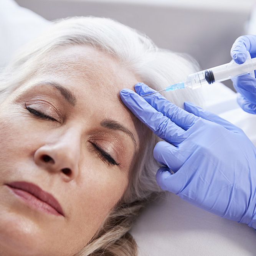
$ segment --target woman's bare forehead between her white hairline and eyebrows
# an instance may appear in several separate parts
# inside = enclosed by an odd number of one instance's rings
[[[115,56],[91,46],[59,47],[42,63],[41,74],[57,77],[74,89],[117,99],[122,88],[133,89],[135,75]]]

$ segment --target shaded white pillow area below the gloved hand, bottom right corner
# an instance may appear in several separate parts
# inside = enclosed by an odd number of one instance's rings
[[[252,256],[256,231],[190,205],[173,193],[151,203],[131,231],[139,256]]]

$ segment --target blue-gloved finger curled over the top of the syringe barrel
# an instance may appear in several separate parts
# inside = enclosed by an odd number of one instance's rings
[[[256,35],[239,36],[233,43],[230,54],[236,63],[242,64],[246,61],[247,51],[252,58],[256,56]]]

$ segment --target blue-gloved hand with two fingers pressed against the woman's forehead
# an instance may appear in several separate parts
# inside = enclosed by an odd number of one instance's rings
[[[120,96],[132,113],[165,141],[154,157],[164,190],[216,215],[256,228],[256,148],[230,122],[190,102],[180,109],[143,83]],[[170,172],[170,169],[174,172]]]

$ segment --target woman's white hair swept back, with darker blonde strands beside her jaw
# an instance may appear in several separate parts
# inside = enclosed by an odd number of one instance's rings
[[[0,77],[0,102],[30,78],[40,61],[63,45],[90,45],[116,56],[141,81],[155,90],[178,83],[198,71],[188,55],[158,48],[144,34],[108,18],[73,17],[58,20],[43,35],[24,46]],[[165,94],[182,107],[184,101],[198,104],[200,97],[190,89]],[[129,193],[106,218],[92,241],[77,255],[135,256],[136,245],[127,233],[145,202],[161,189],[155,181],[160,164],[153,157],[160,139],[153,133],[144,141],[139,159],[134,163]]]

